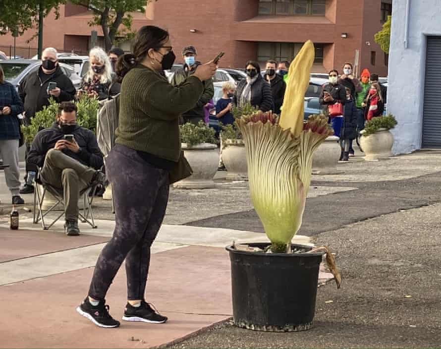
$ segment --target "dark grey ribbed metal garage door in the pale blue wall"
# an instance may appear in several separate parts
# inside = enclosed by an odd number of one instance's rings
[[[423,148],[441,148],[441,37],[427,37]]]

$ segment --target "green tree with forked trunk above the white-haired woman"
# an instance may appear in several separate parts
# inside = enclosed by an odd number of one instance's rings
[[[101,26],[104,34],[106,51],[109,51],[118,40],[131,39],[133,17],[130,12],[144,12],[146,0],[70,0],[90,9],[94,17],[90,26]],[[122,26],[122,27],[121,27]],[[120,28],[121,27],[121,28]]]

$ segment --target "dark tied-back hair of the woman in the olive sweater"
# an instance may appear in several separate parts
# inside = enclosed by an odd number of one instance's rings
[[[168,37],[168,32],[162,28],[153,25],[141,27],[133,40],[133,54],[119,57],[115,64],[115,72],[119,79],[122,80],[130,69],[142,62],[150,49],[159,49]]]

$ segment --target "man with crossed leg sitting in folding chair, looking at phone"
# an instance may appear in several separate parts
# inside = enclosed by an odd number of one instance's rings
[[[40,167],[41,180],[64,193],[67,235],[79,235],[78,199],[91,183],[105,185],[103,154],[95,134],[76,123],[77,107],[62,102],[52,127],[38,132],[32,142],[27,162]]]

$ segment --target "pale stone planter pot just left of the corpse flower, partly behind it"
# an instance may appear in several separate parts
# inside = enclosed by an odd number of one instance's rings
[[[226,180],[248,180],[247,157],[242,139],[226,139],[222,142],[222,162]]]

